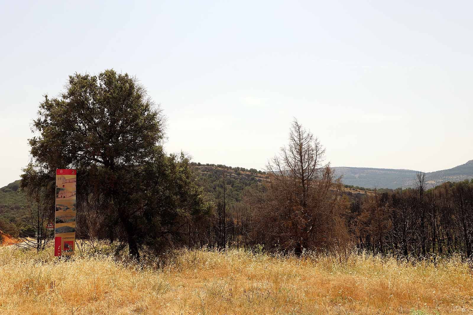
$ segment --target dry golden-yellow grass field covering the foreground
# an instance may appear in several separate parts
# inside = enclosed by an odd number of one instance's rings
[[[0,248],[0,284],[2,315],[473,314],[472,272],[457,258],[436,267],[182,250],[151,268]]]

